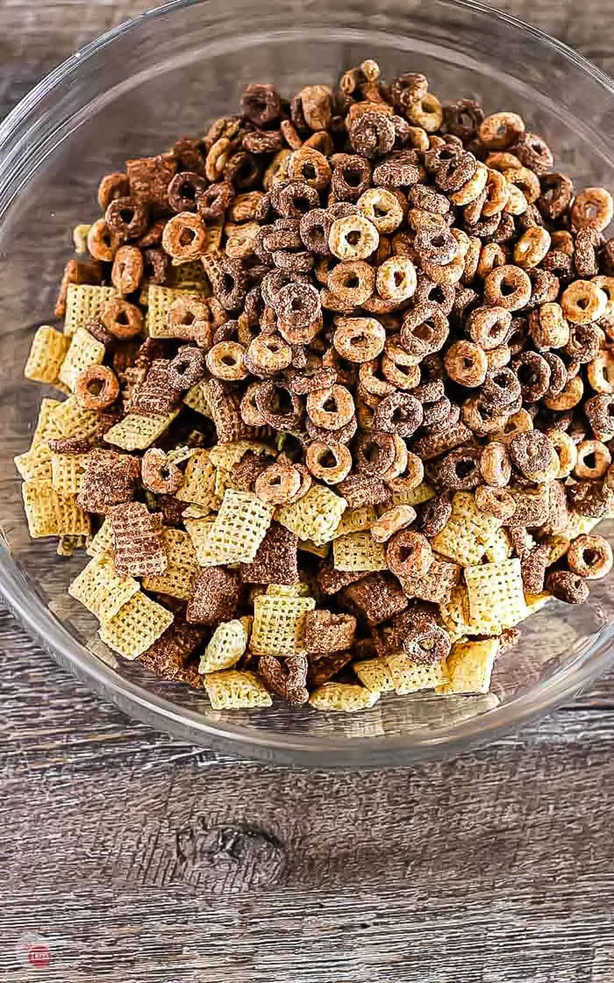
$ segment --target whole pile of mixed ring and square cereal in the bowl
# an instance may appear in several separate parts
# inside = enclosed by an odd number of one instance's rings
[[[32,537],[103,642],[318,710],[482,693],[612,566],[614,210],[514,112],[365,61],[129,160],[26,376]]]

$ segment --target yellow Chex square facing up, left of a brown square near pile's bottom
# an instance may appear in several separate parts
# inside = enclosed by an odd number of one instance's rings
[[[253,602],[251,652],[256,655],[284,655],[303,647],[307,611],[315,607],[313,598],[262,594]]]

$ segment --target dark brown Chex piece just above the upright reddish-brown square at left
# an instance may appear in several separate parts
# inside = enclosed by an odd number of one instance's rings
[[[104,515],[112,505],[134,498],[139,476],[139,458],[95,447],[85,461],[78,502],[87,512]]]

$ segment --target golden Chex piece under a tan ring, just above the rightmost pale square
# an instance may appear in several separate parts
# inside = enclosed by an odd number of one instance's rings
[[[433,536],[431,547],[461,566],[471,566],[479,563],[500,526],[500,519],[479,511],[473,492],[456,492],[452,514],[441,532]]]

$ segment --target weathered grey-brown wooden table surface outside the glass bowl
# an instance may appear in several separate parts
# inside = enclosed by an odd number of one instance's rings
[[[501,5],[614,74],[612,0]],[[145,6],[1,0],[0,113]],[[452,762],[293,773],[131,723],[2,610],[0,649],[0,979],[614,979],[614,673]]]

